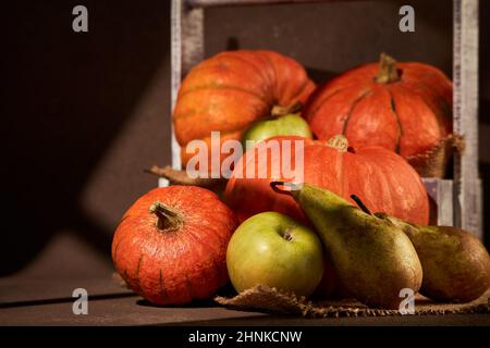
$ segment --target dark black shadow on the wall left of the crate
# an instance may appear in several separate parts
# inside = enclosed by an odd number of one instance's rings
[[[20,270],[62,228],[109,257],[110,234],[83,213],[79,196],[169,55],[168,1],[85,1],[85,34],[72,30],[76,4],[20,1],[4,10],[11,97],[2,112],[9,170],[0,275]]]

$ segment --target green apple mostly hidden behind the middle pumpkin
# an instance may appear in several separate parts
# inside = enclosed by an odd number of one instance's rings
[[[280,117],[261,119],[254,122],[242,136],[242,142],[254,141],[254,145],[271,137],[280,135],[297,135],[313,138],[308,123],[296,113],[290,113]]]

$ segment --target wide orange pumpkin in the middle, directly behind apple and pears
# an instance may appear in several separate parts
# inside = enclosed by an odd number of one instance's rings
[[[301,137],[275,137],[266,140],[293,145],[291,162],[297,154],[294,140],[303,139],[304,179],[303,182],[327,188],[348,199],[358,196],[371,211],[385,212],[400,219],[427,224],[429,222],[429,199],[417,172],[400,156],[382,147],[366,146],[352,148],[344,136],[335,136],[329,141],[311,140]],[[237,162],[224,191],[224,201],[235,212],[238,220],[262,211],[277,211],[302,222],[306,217],[293,198],[278,195],[270,188],[272,181],[284,178],[284,172],[278,176],[271,169],[282,169],[281,157],[244,156]],[[266,167],[266,178],[244,178],[247,167]],[[292,164],[294,167],[294,165]],[[272,177],[274,176],[274,177]],[[256,176],[257,177],[257,176]]]

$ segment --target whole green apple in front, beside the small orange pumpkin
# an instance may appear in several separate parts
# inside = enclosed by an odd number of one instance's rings
[[[258,284],[310,295],[323,275],[323,251],[315,232],[277,212],[244,221],[226,250],[226,266],[236,291]]]

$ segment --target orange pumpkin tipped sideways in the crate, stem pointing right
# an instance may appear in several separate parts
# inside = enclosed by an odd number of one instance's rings
[[[205,140],[209,150],[211,130],[221,132],[221,142],[240,140],[252,122],[274,107],[305,102],[314,89],[295,60],[273,51],[229,51],[205,60],[182,82],[173,112],[183,164],[194,154],[185,153],[191,140]]]

